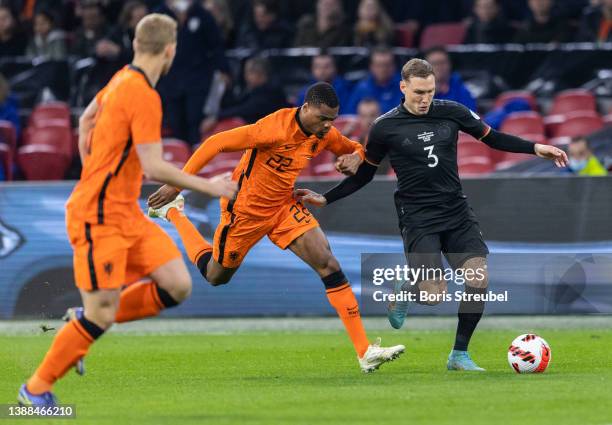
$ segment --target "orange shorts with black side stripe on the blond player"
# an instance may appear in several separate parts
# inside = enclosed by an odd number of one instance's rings
[[[121,229],[67,220],[78,288],[117,289],[181,257],[172,238],[151,220],[136,218],[130,225]]]

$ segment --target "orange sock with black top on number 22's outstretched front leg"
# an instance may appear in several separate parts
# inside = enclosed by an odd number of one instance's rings
[[[338,275],[338,273],[340,273],[341,276]],[[335,280],[341,277],[339,280],[343,280],[345,283],[340,286],[330,287],[326,282],[326,279],[332,280],[329,279],[330,277],[335,277]],[[342,320],[344,328],[353,342],[357,355],[363,357],[370,343],[365,333],[365,329],[363,328],[363,323],[361,322],[359,304],[353,294],[351,285],[346,282],[346,278],[342,272],[336,272],[323,278],[323,282],[326,283],[325,286],[328,288],[325,292],[327,293],[329,303],[336,309],[340,320]]]

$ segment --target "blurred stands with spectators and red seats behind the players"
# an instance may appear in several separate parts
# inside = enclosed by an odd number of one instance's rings
[[[567,146],[568,175],[612,166],[612,0],[0,0],[0,179],[78,178],[78,114],[129,63],[151,12],[179,23],[174,66],[157,86],[179,166],[207,135],[300,105],[316,81],[338,92],[337,126],[365,143],[400,103],[399,69],[414,56],[434,66],[437,98]],[[460,139],[464,175],[548,171],[474,142]],[[336,176],[331,161],[306,174]]]

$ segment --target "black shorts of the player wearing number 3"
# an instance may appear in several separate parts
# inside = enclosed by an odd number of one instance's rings
[[[444,254],[448,264],[457,269],[466,260],[486,257],[489,249],[482,238],[478,223],[464,220],[458,227],[439,232],[401,229],[404,252],[411,268],[442,268]]]

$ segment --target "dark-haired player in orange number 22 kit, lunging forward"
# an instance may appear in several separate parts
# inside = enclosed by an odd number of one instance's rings
[[[333,87],[317,83],[301,107],[281,109],[202,143],[185,172],[198,173],[219,152],[246,150],[232,176],[238,181],[238,194],[234,200],[221,200],[221,221],[212,245],[182,213],[183,200],[174,187],[164,186],[151,195],[149,215],[174,224],[189,259],[212,285],[229,282],[247,252],[264,236],[281,249],[289,248],[323,280],[362,370],[371,372],[399,356],[404,346],[370,345],[357,300],[327,238],[308,209],[293,198],[296,178],[323,149],[339,156],[337,167],[342,172],[354,172],[363,161],[363,147],[332,125],[338,108]]]

